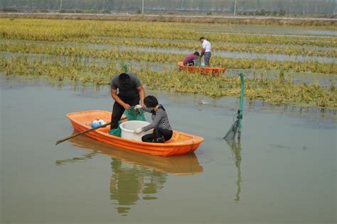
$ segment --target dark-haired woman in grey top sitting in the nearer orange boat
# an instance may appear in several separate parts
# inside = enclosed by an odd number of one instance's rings
[[[137,128],[134,133],[139,134],[143,131],[154,128],[154,133],[144,135],[141,140],[143,142],[156,142],[164,143],[172,138],[173,131],[169,123],[169,118],[165,111],[164,106],[158,103],[158,100],[154,96],[146,96],[144,98],[145,107],[142,109],[146,112],[152,113],[152,123],[142,128]],[[135,108],[141,108],[140,105]]]

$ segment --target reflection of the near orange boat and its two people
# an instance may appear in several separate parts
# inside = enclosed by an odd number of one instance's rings
[[[122,215],[127,215],[139,200],[156,200],[157,193],[164,188],[168,174],[193,175],[203,172],[203,167],[194,153],[176,157],[156,157],[122,150],[85,136],[78,136],[69,142],[92,152],[81,157],[56,160],[56,165],[86,162],[95,155],[105,154],[111,157],[109,198],[117,205],[117,212]]]

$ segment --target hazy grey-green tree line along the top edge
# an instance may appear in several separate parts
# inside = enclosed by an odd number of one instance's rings
[[[142,0],[1,0],[3,11],[55,11],[62,9],[80,12],[140,11]],[[235,0],[144,0],[145,11],[205,11],[231,13]],[[242,15],[333,14],[336,0],[237,0],[236,11]]]

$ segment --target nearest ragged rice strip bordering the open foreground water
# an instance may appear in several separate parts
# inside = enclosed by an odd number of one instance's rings
[[[0,57],[0,69],[6,75],[48,76],[59,81],[73,80],[75,82],[94,82],[97,85],[109,84],[112,76],[122,72],[116,65],[85,66],[79,58],[73,58],[68,65],[62,65],[57,60],[43,62],[29,61],[28,57],[17,57],[6,60]],[[147,67],[130,68],[135,72],[148,89],[164,89],[208,96],[238,96],[240,79],[237,77],[211,77],[203,74],[178,72],[176,70],[154,72]],[[279,79],[264,79],[254,77],[246,79],[245,96],[247,99],[260,99],[270,103],[300,103],[303,106],[337,107],[337,91],[332,83],[330,88],[312,84],[294,84],[292,79],[284,79],[282,72]]]

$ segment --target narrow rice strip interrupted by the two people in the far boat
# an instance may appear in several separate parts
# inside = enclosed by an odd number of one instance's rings
[[[55,45],[33,45],[33,44],[0,44],[0,51],[22,52],[47,55],[77,56],[77,57],[98,57],[124,60],[137,60],[139,62],[172,62],[181,61],[186,55],[137,52],[136,50],[120,51],[116,48],[97,50],[83,47],[58,47]],[[212,63],[217,67],[228,68],[255,68],[255,69],[284,69],[295,70],[296,72],[316,72],[326,74],[337,74],[337,65],[334,63],[320,62],[297,62],[297,61],[272,61],[265,59],[246,59],[230,57],[212,57]]]

